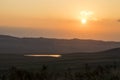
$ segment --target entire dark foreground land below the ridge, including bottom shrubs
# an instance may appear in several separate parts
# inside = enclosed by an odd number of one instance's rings
[[[0,80],[120,80],[120,48],[59,58],[0,54]]]

